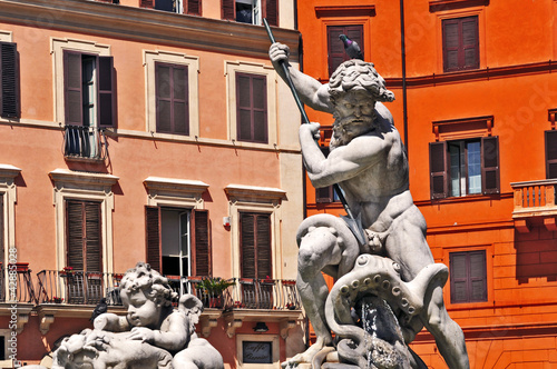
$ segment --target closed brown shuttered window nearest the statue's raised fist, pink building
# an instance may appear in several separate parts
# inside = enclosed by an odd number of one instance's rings
[[[236,73],[236,123],[238,141],[267,143],[266,77]]]

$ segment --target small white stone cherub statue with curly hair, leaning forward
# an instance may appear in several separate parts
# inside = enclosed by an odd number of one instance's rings
[[[221,353],[195,332],[202,301],[184,295],[174,309],[176,297],[166,278],[138,262],[120,283],[127,315],[102,313],[94,330],[66,339],[55,352],[52,369],[224,369]]]

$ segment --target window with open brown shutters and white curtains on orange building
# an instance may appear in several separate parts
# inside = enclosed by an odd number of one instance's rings
[[[431,198],[499,193],[498,137],[430,143]]]

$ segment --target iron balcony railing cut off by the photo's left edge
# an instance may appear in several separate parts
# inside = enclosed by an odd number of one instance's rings
[[[0,263],[0,301],[35,303],[36,296],[28,262],[17,262],[4,268]]]

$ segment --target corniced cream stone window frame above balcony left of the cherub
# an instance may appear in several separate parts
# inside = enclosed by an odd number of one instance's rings
[[[76,172],[55,169],[49,173],[55,183],[53,206],[56,215],[56,268],[66,267],[66,199],[100,202],[102,272],[114,270],[113,211],[114,192],[111,187],[119,180],[113,174]]]

